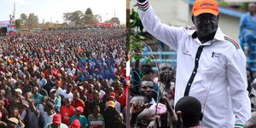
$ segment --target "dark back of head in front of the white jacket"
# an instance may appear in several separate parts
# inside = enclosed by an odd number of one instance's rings
[[[177,113],[177,111],[181,112],[185,127],[199,125],[203,117],[201,113],[201,102],[192,96],[184,96],[179,99],[175,105],[175,112]]]

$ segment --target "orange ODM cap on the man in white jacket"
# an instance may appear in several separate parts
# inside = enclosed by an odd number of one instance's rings
[[[215,0],[196,0],[193,5],[192,14],[197,16],[205,13],[218,15],[218,2]]]

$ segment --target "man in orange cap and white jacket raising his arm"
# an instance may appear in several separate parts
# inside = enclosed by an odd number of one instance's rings
[[[166,26],[148,0],[137,0],[144,28],[177,50],[175,103],[183,96],[201,102],[204,128],[243,127],[250,118],[246,56],[239,44],[218,27],[218,3],[196,0],[195,27]]]

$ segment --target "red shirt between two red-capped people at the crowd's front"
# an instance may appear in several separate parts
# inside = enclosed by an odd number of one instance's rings
[[[61,107],[61,116],[62,116],[62,123],[69,125],[69,120],[75,113],[75,108],[72,106],[70,108],[67,108],[67,106],[62,106]]]

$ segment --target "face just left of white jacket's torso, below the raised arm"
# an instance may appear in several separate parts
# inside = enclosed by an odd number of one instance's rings
[[[169,63],[161,63],[159,65],[160,82],[163,84],[171,83],[172,67]]]

